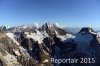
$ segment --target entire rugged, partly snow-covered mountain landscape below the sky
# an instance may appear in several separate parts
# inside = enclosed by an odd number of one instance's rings
[[[100,35],[90,27],[53,23],[0,28],[0,66],[100,66]],[[87,63],[54,63],[87,58]]]

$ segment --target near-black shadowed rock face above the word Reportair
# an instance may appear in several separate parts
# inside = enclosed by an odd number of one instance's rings
[[[73,42],[63,42],[60,38],[54,37],[54,44],[52,45],[52,57],[54,59],[68,59],[72,58],[72,53],[76,51],[77,45]],[[69,63],[56,64],[54,66],[71,66]]]

